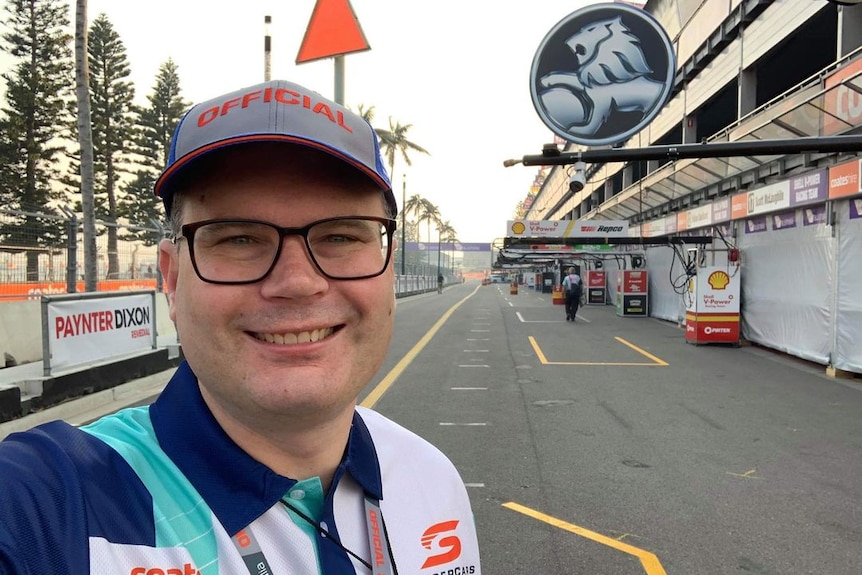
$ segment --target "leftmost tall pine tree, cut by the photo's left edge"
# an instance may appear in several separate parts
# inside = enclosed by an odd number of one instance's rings
[[[72,139],[71,87],[74,86],[69,7],[63,0],[7,0],[3,50],[14,60],[2,75],[6,101],[0,103],[0,201],[21,210],[15,222],[0,226],[5,245],[27,251],[27,280],[39,280],[39,254],[62,245],[62,220],[39,214],[56,211],[65,198],[57,166]]]

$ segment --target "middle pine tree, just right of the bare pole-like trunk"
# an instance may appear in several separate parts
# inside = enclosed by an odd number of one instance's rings
[[[129,171],[135,134],[135,88],[126,48],[108,17],[90,26],[90,118],[93,129],[96,217],[108,223],[108,279],[119,277],[117,220],[120,177]]]

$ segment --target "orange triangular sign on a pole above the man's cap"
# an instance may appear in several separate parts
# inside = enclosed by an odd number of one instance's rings
[[[296,63],[370,49],[350,0],[317,0]]]

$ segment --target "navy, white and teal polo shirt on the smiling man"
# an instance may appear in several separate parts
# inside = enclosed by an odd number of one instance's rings
[[[325,493],[240,449],[186,363],[150,406],[0,443],[2,574],[371,573],[345,548],[375,575],[480,573],[451,461],[369,409]]]

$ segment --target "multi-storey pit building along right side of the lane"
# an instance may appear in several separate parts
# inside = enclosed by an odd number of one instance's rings
[[[674,91],[619,147],[860,132],[862,5],[649,0],[644,9],[673,41]],[[588,164],[578,192],[555,166],[524,217],[626,220],[643,238],[650,315],[680,323],[685,293],[674,278],[685,262],[658,240],[711,236],[699,258],[725,265],[739,254],[743,337],[862,373],[860,151]]]

